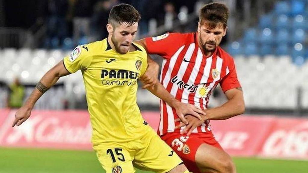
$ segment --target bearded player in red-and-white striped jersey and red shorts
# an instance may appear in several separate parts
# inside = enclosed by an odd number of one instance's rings
[[[209,125],[210,120],[228,119],[245,111],[233,58],[219,46],[227,31],[228,16],[224,4],[210,3],[200,11],[197,32],[166,33],[138,41],[148,54],[164,58],[160,82],[167,91],[182,103],[206,112],[202,120],[185,116],[189,122],[186,125],[179,122],[167,100],[160,102],[158,134],[194,173],[236,172],[232,159],[215,140]],[[218,84],[228,101],[209,109],[209,96]]]

